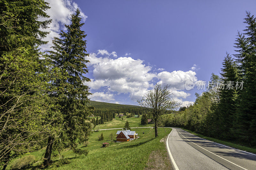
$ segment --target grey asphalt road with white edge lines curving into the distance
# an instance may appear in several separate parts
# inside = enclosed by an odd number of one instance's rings
[[[176,170],[256,170],[255,154],[204,140],[180,128],[173,128],[166,144]]]

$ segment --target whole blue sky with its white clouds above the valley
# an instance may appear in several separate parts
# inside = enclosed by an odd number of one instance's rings
[[[256,13],[256,1],[47,1],[49,41],[81,9],[92,100],[120,104],[137,104],[159,81],[171,84],[181,104],[191,104],[202,90],[187,91],[184,82],[219,74],[226,51],[234,54],[245,11]]]

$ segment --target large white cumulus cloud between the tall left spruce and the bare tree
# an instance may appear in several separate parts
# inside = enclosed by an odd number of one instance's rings
[[[99,54],[106,57],[99,57]],[[143,64],[142,60],[131,57],[111,59],[108,54],[108,51],[98,50],[98,54],[89,55],[94,79],[84,84],[92,89],[106,86],[111,92],[128,93],[134,101],[141,99],[148,88],[154,86],[150,81],[156,74],[150,73],[151,67]]]

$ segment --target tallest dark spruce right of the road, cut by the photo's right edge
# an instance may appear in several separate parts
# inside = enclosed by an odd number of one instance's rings
[[[244,81],[237,98],[235,131],[237,137],[250,146],[256,145],[256,18],[246,12],[244,33],[238,33],[236,54],[239,62],[239,78]]]

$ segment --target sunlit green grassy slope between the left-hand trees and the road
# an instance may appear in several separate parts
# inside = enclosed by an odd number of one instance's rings
[[[113,133],[115,135],[117,130],[94,132],[89,137],[89,143],[86,147],[84,144],[78,146],[82,150],[89,151],[86,156],[79,156],[73,151],[64,150],[61,155],[69,163],[59,165],[59,155],[54,153],[52,157],[53,164],[44,169],[144,169],[144,167],[147,167],[148,158],[152,151],[166,153],[165,143],[160,142],[160,140],[171,132],[171,128],[165,128],[166,133],[163,128],[158,128],[159,136],[156,138],[153,128],[134,128],[132,130],[136,131],[140,137],[136,140],[122,143],[110,141],[110,134]],[[101,133],[103,133],[104,140],[99,141],[98,135]],[[108,142],[110,145],[102,148],[101,146],[104,142]],[[44,151],[45,149],[41,149],[31,153],[36,157],[37,162],[27,169],[40,169]]]

